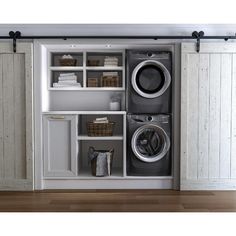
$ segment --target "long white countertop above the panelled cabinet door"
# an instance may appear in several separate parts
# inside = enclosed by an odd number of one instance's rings
[[[125,115],[126,111],[46,111],[44,115]]]

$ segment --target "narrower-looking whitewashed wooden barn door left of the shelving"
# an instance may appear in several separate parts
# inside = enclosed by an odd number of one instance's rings
[[[0,43],[0,190],[32,190],[32,45]]]

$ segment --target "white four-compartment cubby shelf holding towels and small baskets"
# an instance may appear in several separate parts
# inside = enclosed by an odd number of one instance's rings
[[[124,51],[78,51],[49,52],[48,90],[125,90],[125,55]],[[71,63],[67,63],[71,57]],[[65,63],[63,62],[63,58]],[[67,60],[67,61],[66,61]],[[74,73],[79,85],[59,83],[61,74]],[[97,83],[90,83],[96,79]],[[90,81],[89,81],[90,80]],[[108,82],[103,82],[104,80]],[[92,86],[91,86],[92,85]],[[81,87],[80,87],[81,86]]]

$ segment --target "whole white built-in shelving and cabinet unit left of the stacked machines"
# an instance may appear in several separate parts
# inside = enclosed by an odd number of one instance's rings
[[[125,49],[106,44],[73,44],[35,41],[35,189],[88,188],[170,188],[172,177],[131,177],[126,175]],[[63,55],[76,59],[73,66],[61,66]],[[118,64],[104,66],[107,57]],[[97,63],[96,65],[91,65]],[[115,72],[119,82],[104,87],[104,72]],[[62,73],[76,75],[78,86],[57,86]],[[98,80],[90,87],[89,78]],[[112,96],[119,96],[121,109],[111,111]],[[86,123],[107,117],[115,122],[113,136],[88,136]],[[90,146],[98,150],[114,148],[111,176],[95,177],[88,161]],[[165,179],[165,180],[164,180]],[[162,181],[164,180],[164,182]]]

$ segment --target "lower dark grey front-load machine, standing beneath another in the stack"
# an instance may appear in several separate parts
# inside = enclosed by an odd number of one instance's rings
[[[127,175],[171,175],[171,115],[127,115]]]

